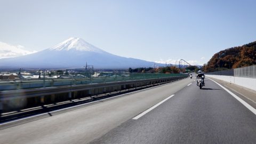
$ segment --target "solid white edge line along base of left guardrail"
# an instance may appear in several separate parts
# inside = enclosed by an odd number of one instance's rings
[[[148,88],[146,88],[146,89],[142,89],[142,90],[138,90],[138,91],[133,91],[133,92],[129,92],[129,93],[124,93],[124,94],[116,95],[116,96],[114,96],[114,97],[110,97],[110,98],[106,98],[106,99],[101,99],[101,101],[102,101],[102,100],[107,100],[107,99],[113,99],[113,98],[116,98],[116,97],[121,97],[121,96],[126,95],[126,94],[131,94],[131,93],[137,93],[137,92],[140,92],[140,91],[145,91],[145,90],[148,90],[148,89],[154,89],[154,88],[156,88],[156,87],[160,87],[160,86],[164,86],[164,85],[172,84],[172,83],[173,83],[173,82],[166,83],[166,84],[162,84],[162,85],[157,85],[157,86],[154,86],[154,87],[148,87]],[[58,110],[53,110],[53,111],[49,111],[49,112],[47,112],[47,113],[37,114],[37,115],[34,115],[34,116],[23,117],[23,118],[20,118],[20,119],[15,119],[15,120],[13,120],[13,121],[0,123],[0,125],[9,124],[9,123],[17,122],[17,121],[21,121],[21,120],[23,120],[23,119],[28,119],[28,118],[31,118],[31,117],[41,116],[41,115],[45,115],[45,114],[51,114],[51,113],[54,113],[54,112],[56,112],[56,111],[61,111],[61,110],[70,109],[70,108],[74,108],[74,107],[79,107],[79,106],[83,106],[83,105],[89,105],[90,103],[94,103],[94,102],[98,102],[98,101],[99,101],[99,100],[97,100],[97,101],[92,101],[92,102],[87,102],[87,103],[83,103],[83,104],[77,105],[77,106],[72,106],[72,107],[62,108],[62,109],[58,109]]]

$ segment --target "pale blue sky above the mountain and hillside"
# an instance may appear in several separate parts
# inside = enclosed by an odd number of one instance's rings
[[[206,63],[256,40],[256,1],[2,1],[0,42],[40,51],[81,37],[147,61]]]

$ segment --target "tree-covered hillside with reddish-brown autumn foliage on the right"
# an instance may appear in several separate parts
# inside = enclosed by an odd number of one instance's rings
[[[231,47],[215,53],[207,65],[204,65],[205,73],[246,67],[256,64],[256,41],[243,46]]]

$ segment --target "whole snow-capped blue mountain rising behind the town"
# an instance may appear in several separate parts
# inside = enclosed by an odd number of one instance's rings
[[[154,67],[154,62],[125,58],[99,49],[82,38],[69,38],[49,49],[15,58],[0,59],[1,68],[82,68],[86,62],[94,68]],[[157,63],[158,66],[163,64]]]

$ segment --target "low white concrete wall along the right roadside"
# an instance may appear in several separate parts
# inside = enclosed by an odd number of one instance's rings
[[[222,81],[233,83],[239,86],[246,87],[247,89],[256,91],[256,78],[223,76],[223,75],[206,75],[206,77],[217,78]]]

